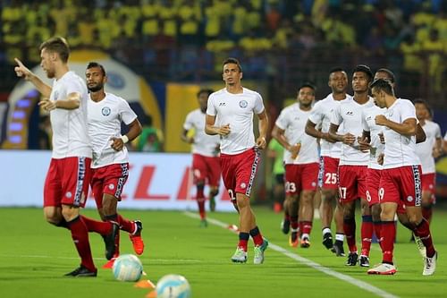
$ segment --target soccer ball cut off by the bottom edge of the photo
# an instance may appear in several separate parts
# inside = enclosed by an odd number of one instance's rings
[[[185,277],[169,274],[156,283],[156,298],[190,298],[190,283]]]

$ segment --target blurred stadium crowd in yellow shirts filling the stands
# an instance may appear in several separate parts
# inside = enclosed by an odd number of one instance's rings
[[[214,79],[223,58],[237,56],[251,79],[274,78],[290,91],[303,77],[325,81],[325,72],[318,71],[322,64],[361,62],[390,66],[401,77],[401,88],[409,86],[419,97],[443,95],[445,0],[9,0],[1,5],[0,62],[5,64],[13,64],[13,57],[38,64],[36,45],[58,35],[72,49],[103,50],[151,79]]]

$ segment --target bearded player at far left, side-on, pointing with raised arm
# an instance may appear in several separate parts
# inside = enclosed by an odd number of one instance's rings
[[[80,215],[80,208],[87,200],[91,176],[91,148],[87,132],[89,95],[85,82],[69,70],[69,55],[70,49],[64,38],[50,38],[40,46],[40,66],[48,78],[55,79],[52,87],[17,58],[18,65],[14,70],[38,89],[44,98],[39,106],[50,112],[53,153],[44,186],[44,214],[50,224],[70,229],[80,255],[80,267],[65,276],[96,277],[89,231],[105,237],[105,257],[110,260],[115,251],[114,238],[118,226]]]

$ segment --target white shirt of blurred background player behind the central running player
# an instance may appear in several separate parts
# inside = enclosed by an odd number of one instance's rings
[[[183,129],[194,129],[194,143],[192,153],[205,157],[216,157],[219,154],[219,135],[209,135],[205,132],[206,114],[198,108],[186,116]]]

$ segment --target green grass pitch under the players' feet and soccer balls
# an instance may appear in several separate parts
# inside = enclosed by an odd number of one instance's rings
[[[84,215],[97,217],[95,210]],[[234,213],[208,213],[207,228],[198,227],[196,217],[185,212],[122,210],[128,218],[143,221],[146,250],[143,262],[147,279],[154,283],[165,274],[181,274],[192,288],[194,298],[215,297],[447,297],[447,212],[434,210],[431,226],[436,250],[437,270],[423,277],[423,262],[417,247],[409,243],[409,232],[398,229],[395,276],[368,276],[366,268],[346,267],[321,244],[319,220],[314,221],[309,249],[291,248],[288,236],[281,233],[282,215],[256,208],[257,223],[271,245],[266,261],[253,265],[253,246],[249,243],[247,264],[230,260],[237,235],[215,224],[238,224]],[[46,224],[41,209],[0,209],[0,297],[146,297],[148,289],[134,283],[114,280],[105,263],[104,243],[90,234],[90,244],[98,268],[96,278],[63,277],[79,265],[70,233]],[[358,225],[359,234],[359,225]],[[132,253],[127,234],[121,234],[122,253]],[[359,236],[358,236],[359,241]],[[359,243],[358,243],[359,246]],[[345,245],[345,250],[347,250]],[[371,264],[381,260],[376,243]]]

